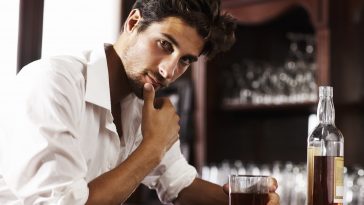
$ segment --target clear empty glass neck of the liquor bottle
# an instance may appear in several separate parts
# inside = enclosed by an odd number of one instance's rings
[[[320,123],[335,124],[335,108],[332,97],[320,97],[317,116]]]

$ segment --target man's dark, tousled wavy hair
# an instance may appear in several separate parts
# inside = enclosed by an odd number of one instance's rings
[[[220,0],[137,0],[133,9],[141,12],[138,32],[167,17],[179,17],[205,40],[203,55],[211,58],[235,43],[236,21],[220,13]]]

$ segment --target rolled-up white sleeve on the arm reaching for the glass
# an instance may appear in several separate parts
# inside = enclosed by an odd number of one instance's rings
[[[159,199],[167,204],[177,198],[179,192],[189,186],[197,176],[189,165],[177,141],[166,153],[162,162],[143,180],[143,184],[155,189]]]

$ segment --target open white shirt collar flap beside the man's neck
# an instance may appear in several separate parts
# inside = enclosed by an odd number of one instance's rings
[[[104,46],[90,53],[86,75],[85,100],[111,110],[109,72]]]

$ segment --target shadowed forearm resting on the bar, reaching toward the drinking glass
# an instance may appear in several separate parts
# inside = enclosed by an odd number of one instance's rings
[[[196,178],[176,199],[178,205],[227,205],[228,196],[221,186]]]

